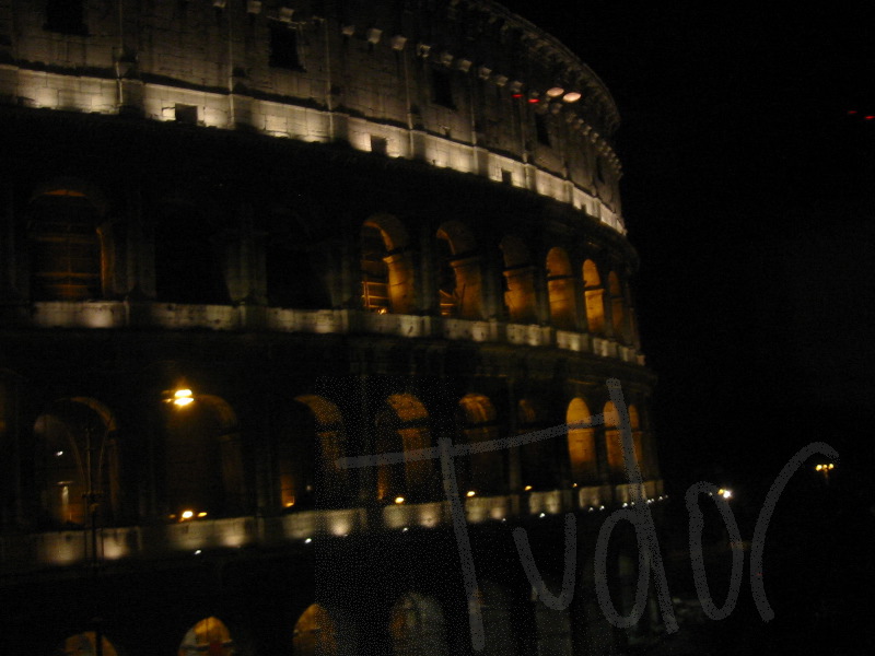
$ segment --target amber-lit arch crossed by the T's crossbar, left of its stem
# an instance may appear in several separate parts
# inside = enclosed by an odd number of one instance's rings
[[[429,415],[415,396],[394,394],[376,418],[376,453],[409,454],[431,446]],[[377,468],[376,497],[386,503],[397,499],[429,501],[434,496],[431,459],[382,464]]]

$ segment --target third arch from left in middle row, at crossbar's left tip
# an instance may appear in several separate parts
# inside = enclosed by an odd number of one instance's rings
[[[280,504],[285,509],[339,507],[348,501],[348,469],[340,410],[331,401],[303,395],[290,405],[277,446]]]

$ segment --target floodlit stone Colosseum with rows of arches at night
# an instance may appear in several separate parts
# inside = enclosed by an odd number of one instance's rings
[[[490,0],[0,0],[0,652],[655,640],[618,122]]]

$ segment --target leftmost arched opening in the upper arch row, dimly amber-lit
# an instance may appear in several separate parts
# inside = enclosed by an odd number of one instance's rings
[[[101,216],[84,192],[57,188],[31,201],[27,241],[34,301],[103,297]]]

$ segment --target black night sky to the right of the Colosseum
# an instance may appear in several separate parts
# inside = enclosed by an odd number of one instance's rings
[[[504,4],[578,52],[619,105],[666,478],[770,481],[814,440],[871,464],[867,3]]]

